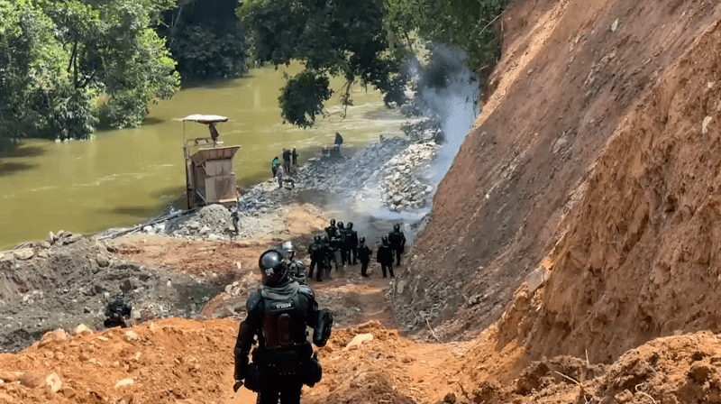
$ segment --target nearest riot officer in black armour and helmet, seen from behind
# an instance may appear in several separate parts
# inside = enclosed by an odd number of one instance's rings
[[[321,380],[321,365],[307,342],[306,326],[314,329],[313,344],[324,346],[333,315],[318,310],[313,290],[288,277],[287,260],[278,250],[260,254],[263,288],[251,292],[248,315],[235,343],[235,386],[244,383],[258,393],[259,404],[299,404],[303,384]],[[251,347],[252,363],[248,363]]]

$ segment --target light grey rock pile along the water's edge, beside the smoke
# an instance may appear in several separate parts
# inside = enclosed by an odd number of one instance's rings
[[[283,188],[268,179],[248,189],[238,201],[238,234],[233,228],[230,209],[220,205],[203,207],[189,215],[169,216],[169,220],[142,228],[144,233],[170,234],[207,240],[230,240],[272,231],[268,214],[301,194],[343,196],[349,200],[377,198],[392,211],[427,206],[434,188],[424,178],[424,169],[439,149],[434,142],[409,142],[394,137],[370,143],[351,158],[311,159],[291,175]],[[340,200],[336,201],[340,202]],[[272,215],[271,215],[272,216]]]

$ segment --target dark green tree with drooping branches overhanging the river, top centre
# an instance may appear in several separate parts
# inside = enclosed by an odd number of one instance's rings
[[[287,122],[315,124],[333,94],[330,76],[346,80],[343,106],[351,105],[355,82],[379,89],[387,106],[405,102],[404,53],[389,46],[382,0],[248,0],[237,13],[251,32],[256,60],[276,67],[291,60],[305,65],[278,98]]]

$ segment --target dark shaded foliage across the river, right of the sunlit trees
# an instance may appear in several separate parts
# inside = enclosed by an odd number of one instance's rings
[[[237,0],[179,0],[163,13],[165,37],[178,72],[186,78],[230,78],[245,69],[245,34]]]

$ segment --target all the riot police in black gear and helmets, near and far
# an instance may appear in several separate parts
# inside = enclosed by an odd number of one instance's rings
[[[322,280],[324,271],[330,278],[331,264],[334,262],[338,271],[339,259],[342,265],[360,262],[360,274],[367,277],[371,251],[352,223],[344,227],[332,219],[325,233],[315,236],[308,249],[308,277],[313,277],[315,269],[316,280]],[[387,270],[394,276],[394,253],[396,265],[400,265],[405,245],[400,225],[394,225],[393,231],[381,238],[377,260],[384,278]],[[245,385],[258,393],[258,404],[299,404],[303,385],[314,386],[323,375],[308,341],[307,327],[313,329],[313,344],[323,347],[331,335],[333,314],[318,308],[313,289],[307,285],[306,266],[297,260],[292,242],[260,254],[258,266],[263,287],[252,291],[246,302],[248,314],[241,322],[234,348],[233,390]],[[130,317],[130,311],[127,298],[119,294],[108,304],[105,326],[125,326],[120,320]]]

